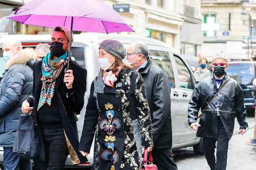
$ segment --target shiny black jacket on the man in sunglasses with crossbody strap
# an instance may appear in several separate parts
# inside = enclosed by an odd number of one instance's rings
[[[230,81],[226,84],[226,82]],[[202,117],[200,118],[196,136],[197,137],[218,137],[218,123],[217,123],[217,103],[219,100],[219,114],[220,118],[224,124],[226,132],[231,139],[233,135],[235,116],[237,116],[237,121],[240,125],[240,129],[246,129],[248,124],[246,121],[246,109],[244,104],[244,96],[240,85],[237,81],[228,77],[226,74],[223,81],[220,84],[219,89],[226,86],[218,93],[211,103],[207,106]],[[191,96],[191,100],[188,104],[188,124],[191,125],[196,122],[198,111],[201,111],[206,107],[207,103],[215,96],[217,93],[216,79],[211,74],[210,77],[204,78],[194,89]]]

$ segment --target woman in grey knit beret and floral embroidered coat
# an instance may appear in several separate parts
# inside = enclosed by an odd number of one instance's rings
[[[79,145],[79,151],[87,155],[95,133],[92,170],[139,170],[144,148],[150,152],[153,147],[144,81],[122,62],[125,55],[119,41],[100,44],[101,69],[90,88]]]

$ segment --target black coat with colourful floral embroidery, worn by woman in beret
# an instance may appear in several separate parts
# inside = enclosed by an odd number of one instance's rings
[[[139,170],[139,154],[133,134],[128,91],[134,70],[124,69],[117,75],[114,87],[105,85],[104,93],[94,97],[94,82],[86,108],[79,150],[90,152],[95,133],[92,170]],[[135,100],[142,146],[153,146],[151,118],[146,89],[139,73],[136,78]],[[99,108],[99,109],[98,109]]]

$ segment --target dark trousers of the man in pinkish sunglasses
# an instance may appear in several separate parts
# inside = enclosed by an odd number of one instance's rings
[[[217,141],[217,152],[215,159],[215,148]],[[229,137],[226,133],[224,125],[220,118],[218,118],[218,138],[213,139],[209,137],[203,138],[203,152],[211,170],[226,170],[227,157],[229,148]],[[216,163],[215,163],[216,162]]]

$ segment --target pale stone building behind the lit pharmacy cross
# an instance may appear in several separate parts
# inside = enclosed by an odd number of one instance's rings
[[[256,0],[202,0],[202,20],[212,17],[220,24],[213,37],[203,33],[202,56],[211,60],[216,52],[226,53],[229,60],[248,60],[253,57],[256,35]],[[255,45],[254,45],[255,46]]]

